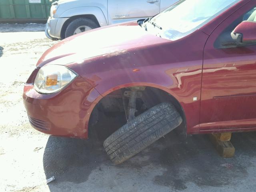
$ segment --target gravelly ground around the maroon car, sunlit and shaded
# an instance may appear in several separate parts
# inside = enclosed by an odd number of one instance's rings
[[[120,126],[121,120],[108,118],[108,124],[99,124],[89,140],[34,130],[22,103],[23,85],[40,55],[56,43],[45,38],[42,28],[0,24],[1,192],[255,191],[255,133],[233,134],[236,155],[225,159],[218,156],[208,136],[183,140],[171,132],[114,166],[102,142],[105,130]],[[46,184],[52,176],[56,180]]]

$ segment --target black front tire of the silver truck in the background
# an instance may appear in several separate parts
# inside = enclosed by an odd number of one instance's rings
[[[96,24],[93,20],[88,18],[77,18],[68,24],[65,31],[65,38],[74,35],[76,28],[80,26],[89,26],[92,29],[98,28],[98,24]]]

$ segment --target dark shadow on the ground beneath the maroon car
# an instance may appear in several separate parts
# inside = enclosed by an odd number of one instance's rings
[[[89,140],[49,137],[43,165],[46,179],[56,178],[48,184],[51,192],[58,192],[60,188],[81,191],[83,187],[88,191],[122,191],[123,186],[137,191],[136,186],[148,184],[159,190],[167,186],[170,190],[182,191],[190,188],[191,183],[198,189],[233,188],[238,181],[252,176],[247,169],[250,168],[250,172],[254,169],[256,132],[233,134],[234,158],[220,157],[207,135],[188,136],[184,140],[170,132],[136,156],[114,166],[103,148],[109,134],[106,130],[113,132],[116,126],[114,120],[108,119],[108,124],[95,128],[98,131]],[[226,163],[232,167],[221,166]]]

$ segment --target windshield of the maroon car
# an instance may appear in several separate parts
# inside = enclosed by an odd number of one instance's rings
[[[180,0],[144,23],[146,30],[177,40],[191,34],[239,0]]]

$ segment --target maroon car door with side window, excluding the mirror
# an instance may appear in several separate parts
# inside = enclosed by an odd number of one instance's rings
[[[206,42],[200,107],[202,132],[256,127],[256,44],[238,46],[230,40],[232,30],[240,22],[250,17],[256,21],[254,7],[255,1],[251,1],[238,9]]]

